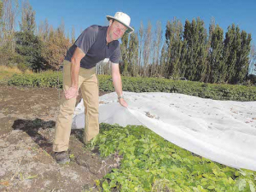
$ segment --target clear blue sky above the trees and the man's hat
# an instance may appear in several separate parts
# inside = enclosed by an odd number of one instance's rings
[[[141,21],[146,28],[149,20],[153,27],[159,20],[165,32],[167,20],[175,17],[183,25],[185,20],[200,17],[208,29],[213,17],[224,32],[235,23],[241,30],[251,33],[253,43],[256,43],[256,0],[30,0],[30,3],[36,11],[37,24],[47,19],[49,25],[56,28],[64,20],[66,32],[71,34],[74,27],[76,38],[88,26],[108,25],[106,15],[113,16],[121,11],[131,16],[131,26],[135,28],[135,32],[138,32]]]

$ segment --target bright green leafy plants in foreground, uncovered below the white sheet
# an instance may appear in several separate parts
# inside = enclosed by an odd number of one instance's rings
[[[237,170],[193,155],[143,126],[101,124],[100,134],[90,144],[99,148],[102,157],[115,154],[115,159],[120,160],[119,167],[96,180],[99,191],[256,189],[256,172]]]

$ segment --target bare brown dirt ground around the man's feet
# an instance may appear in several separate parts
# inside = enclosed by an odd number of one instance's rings
[[[55,162],[59,96],[57,89],[0,85],[0,191],[83,191],[116,163],[84,148],[81,130],[72,131],[69,165]]]

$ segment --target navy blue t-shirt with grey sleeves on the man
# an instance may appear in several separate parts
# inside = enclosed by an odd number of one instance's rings
[[[107,44],[108,26],[90,26],[81,33],[73,46],[67,50],[65,60],[71,61],[73,53],[77,47],[84,51],[85,56],[80,62],[80,67],[95,67],[97,62],[105,58],[113,63],[119,63],[120,46],[119,41],[115,40]]]

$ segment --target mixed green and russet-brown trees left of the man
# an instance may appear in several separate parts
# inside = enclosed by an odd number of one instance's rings
[[[20,9],[20,30],[15,31]],[[70,40],[63,21],[57,29],[49,26],[48,20],[37,26],[35,15],[28,1],[23,1],[20,7],[16,0],[0,1],[0,65],[16,65],[21,71],[34,72],[59,69],[74,41],[74,31]]]

